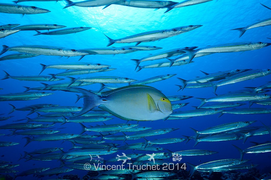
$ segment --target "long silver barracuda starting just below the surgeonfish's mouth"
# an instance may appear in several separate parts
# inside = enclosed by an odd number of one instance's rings
[[[206,116],[221,113],[224,110],[222,109],[196,109],[196,110],[188,110],[188,111],[180,111],[172,113],[171,117],[197,117],[197,116]]]

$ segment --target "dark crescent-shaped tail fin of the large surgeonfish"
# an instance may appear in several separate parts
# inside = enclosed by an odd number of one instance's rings
[[[82,88],[69,88],[69,89],[76,90],[79,93],[82,93],[84,97],[84,106],[82,110],[79,113],[73,115],[72,117],[81,116],[82,114],[85,114],[88,111],[92,110],[94,107],[101,105],[102,101],[107,101],[106,99],[101,98],[101,96]]]

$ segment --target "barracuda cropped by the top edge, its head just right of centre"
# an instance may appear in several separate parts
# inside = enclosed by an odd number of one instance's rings
[[[166,8],[168,6],[172,6],[177,4],[178,2],[172,2],[172,1],[159,1],[159,0],[122,0],[118,3],[118,5],[123,6],[130,6],[135,8]]]

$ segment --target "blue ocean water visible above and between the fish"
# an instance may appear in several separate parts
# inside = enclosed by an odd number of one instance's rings
[[[78,2],[78,1],[76,1]],[[179,0],[177,2],[180,2]],[[11,3],[9,0],[0,0],[0,3]],[[154,11],[153,9],[144,8],[133,8],[120,5],[110,5],[109,7],[102,9],[102,7],[92,7],[83,8],[72,6],[66,9],[62,9],[65,6],[64,1],[59,2],[23,2],[23,5],[37,6],[44,9],[49,9],[50,13],[36,14],[36,15],[25,15],[22,17],[18,14],[4,14],[1,13],[1,24],[36,24],[36,23],[51,23],[65,25],[69,27],[92,27],[90,30],[79,32],[76,34],[67,34],[59,36],[33,36],[36,34],[34,31],[21,31],[13,35],[7,36],[4,39],[0,39],[1,45],[7,46],[19,46],[19,45],[47,45],[47,46],[59,46],[67,47],[71,49],[85,49],[85,48],[98,48],[106,47],[108,39],[104,36],[106,34],[112,39],[122,38],[125,36],[133,35],[136,33],[147,32],[151,30],[160,29],[170,29],[178,26],[185,25],[203,25],[200,28],[192,30],[187,33],[180,34],[171,38],[162,39],[155,42],[141,43],[140,45],[150,45],[163,47],[156,51],[138,51],[128,54],[120,55],[87,55],[80,62],[90,62],[90,63],[101,63],[108,64],[117,70],[109,72],[99,72],[94,74],[86,74],[75,77],[92,77],[92,76],[120,76],[129,77],[136,80],[143,80],[150,77],[162,75],[162,74],[177,74],[176,76],[159,81],[156,83],[148,84],[149,86],[155,87],[161,90],[166,96],[173,95],[187,95],[199,98],[210,98],[214,97],[214,93],[211,87],[207,88],[195,88],[195,89],[184,89],[183,91],[178,91],[178,87],[175,84],[182,85],[182,83],[176,79],[176,77],[189,80],[193,79],[195,76],[204,76],[201,71],[207,73],[215,73],[219,71],[233,70],[233,69],[267,69],[271,67],[270,63],[270,47],[265,47],[258,50],[246,51],[246,52],[236,52],[236,53],[216,53],[204,57],[199,57],[193,59],[194,63],[184,65],[184,66],[173,66],[173,67],[163,67],[154,69],[143,69],[139,72],[135,72],[134,62],[130,59],[141,59],[149,53],[159,53],[165,50],[175,49],[178,47],[186,46],[198,46],[204,47],[208,45],[217,45],[225,43],[235,43],[235,42],[270,42],[271,32],[270,26],[254,28],[248,30],[241,38],[238,38],[239,33],[237,31],[230,31],[230,29],[241,28],[250,25],[258,20],[263,20],[270,17],[271,11],[264,8],[259,3],[267,6],[271,6],[270,1],[252,1],[252,0],[232,0],[232,1],[211,1],[199,5],[188,6],[184,8],[176,8],[167,13],[163,13],[165,9],[158,9]],[[104,34],[103,34],[104,33]],[[134,45],[132,43],[130,45]],[[114,44],[113,46],[121,47],[127,46],[128,44]],[[12,54],[13,52],[7,52],[7,54]],[[38,75],[41,70],[40,63],[42,64],[57,64],[57,63],[75,63],[78,62],[79,57],[57,57],[57,56],[37,56],[27,59],[14,59],[6,60],[0,62],[0,69],[5,70],[12,76],[31,76]],[[154,62],[162,62],[166,59],[155,60],[152,62],[143,62],[141,65],[150,64]],[[62,72],[63,70],[57,69],[46,69],[41,75],[52,74]],[[0,71],[0,77],[4,77],[3,71]],[[69,79],[66,78],[66,80]],[[244,87],[259,87],[270,81],[270,76],[260,77],[255,80],[243,81],[235,84],[225,85],[218,87],[217,94],[225,94],[228,91],[241,90]],[[57,82],[45,82],[48,84],[60,83]],[[121,84],[122,85],[122,84]],[[128,84],[125,84],[128,85]],[[34,81],[18,81],[15,79],[6,79],[0,81],[0,91],[1,94],[7,93],[18,93],[25,91],[24,87],[37,87],[41,86],[39,82]],[[98,90],[99,84],[93,84],[90,86],[83,86],[84,89]],[[11,110],[11,103],[15,107],[23,107],[31,104],[42,104],[51,103],[59,104],[60,106],[83,106],[83,100],[79,100],[75,104],[76,95],[75,93],[64,92],[64,91],[53,91],[53,95],[42,97],[36,100],[30,101],[2,101],[0,114],[5,114],[8,116],[8,112]],[[270,93],[269,93],[270,94]],[[178,101],[180,102],[180,101]],[[198,106],[200,101],[191,98],[183,100],[182,102],[189,103],[188,106],[182,107],[175,111],[186,111],[195,109],[192,106]],[[175,103],[175,102],[173,102]],[[248,107],[246,104],[241,106],[242,108]],[[252,107],[264,107],[267,106],[254,104]],[[140,112],[138,112],[140,113]],[[15,111],[11,115],[14,116],[6,121],[1,121],[0,125],[11,124],[14,120],[23,119],[27,116],[28,112],[25,111]],[[28,117],[35,117],[32,114]],[[205,128],[230,123],[237,121],[252,121],[257,120],[253,125],[262,126],[263,122],[266,125],[270,124],[270,114],[249,114],[249,115],[235,115],[235,114],[224,114],[222,117],[218,118],[218,115],[193,117],[185,120],[157,120],[157,121],[146,121],[139,122],[141,126],[152,127],[153,129],[174,127],[180,128],[179,130],[170,132],[165,135],[157,135],[148,137],[147,140],[159,139],[159,138],[173,138],[182,137],[182,135],[192,136],[193,131],[189,128],[192,127],[196,130],[204,130]],[[126,123],[125,120],[121,120],[114,117],[113,120],[105,122],[106,124],[116,124],[116,123]],[[136,123],[136,122],[132,122]],[[97,123],[102,125],[102,123]],[[87,124],[91,125],[91,124]],[[95,123],[94,123],[95,125]],[[56,124],[54,128],[65,127],[61,129],[62,133],[74,133],[78,134],[81,132],[81,127],[76,123],[66,123],[64,125]],[[8,130],[1,130],[1,134],[9,134]],[[118,135],[118,134],[117,134]],[[121,135],[121,134],[119,134]],[[44,141],[31,142],[29,145],[24,147],[26,142],[22,139],[23,136],[1,136],[1,141],[12,141],[20,142],[19,145],[10,147],[1,147],[0,155],[1,160],[12,161],[13,164],[20,164],[20,166],[15,169],[22,172],[27,169],[37,168],[37,167],[60,167],[60,162],[57,160],[53,161],[34,161],[30,160],[24,162],[24,160],[18,161],[24,151],[29,152],[35,149],[46,148],[46,147],[63,147],[64,151],[71,148],[71,143],[65,141]],[[221,141],[221,142],[201,142],[195,148],[193,148],[193,140],[189,141],[187,144],[180,142],[177,144],[167,144],[159,145],[159,147],[164,147],[170,151],[176,152],[181,150],[192,150],[192,149],[206,149],[217,151],[219,153],[208,156],[184,156],[182,158],[182,163],[189,162],[191,164],[202,164],[203,162],[214,161],[218,159],[228,159],[228,158],[240,158],[240,153],[232,144],[240,148],[251,147],[249,141],[254,142],[265,142],[270,140],[270,135],[261,135],[250,137],[245,144],[242,144],[242,140],[237,141]],[[111,142],[111,141],[107,141]],[[127,143],[144,142],[144,140],[129,140]],[[121,141],[117,141],[118,144],[122,144]],[[131,153],[131,150],[122,151],[112,155],[105,155],[103,158],[109,159],[116,157],[117,154],[125,152],[126,154]],[[137,151],[143,152],[145,151]],[[146,152],[147,153],[147,152]],[[152,152],[148,152],[151,154]],[[270,152],[259,153],[259,154],[245,154],[244,159],[251,159],[251,163],[259,164],[257,167],[260,169],[261,173],[267,173],[270,171]],[[78,174],[80,177],[86,174],[83,170],[74,170],[67,174]],[[65,175],[65,174],[62,174]],[[55,178],[57,176],[52,176]],[[17,179],[25,179],[25,177],[18,177]],[[27,176],[27,179],[34,179],[32,176]],[[36,178],[35,178],[36,179]],[[44,178],[46,179],[46,178]],[[49,178],[47,178],[49,179]]]

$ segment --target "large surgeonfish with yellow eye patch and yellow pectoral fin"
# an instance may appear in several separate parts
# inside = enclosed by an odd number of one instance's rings
[[[169,99],[150,86],[125,86],[102,92],[101,96],[81,88],[69,89],[78,90],[84,96],[82,111],[75,116],[81,116],[96,106],[124,120],[154,121],[166,119],[172,113]]]

